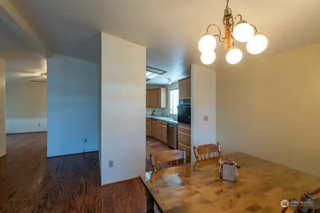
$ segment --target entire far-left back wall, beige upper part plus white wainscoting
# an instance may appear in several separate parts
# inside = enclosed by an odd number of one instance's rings
[[[46,83],[7,82],[5,132],[46,131]]]

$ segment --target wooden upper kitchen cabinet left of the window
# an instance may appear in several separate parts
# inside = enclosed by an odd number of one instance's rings
[[[147,108],[166,108],[166,88],[147,89],[146,107]]]

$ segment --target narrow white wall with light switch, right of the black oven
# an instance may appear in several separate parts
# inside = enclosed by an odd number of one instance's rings
[[[215,71],[191,64],[191,149],[215,143]],[[207,121],[204,117],[207,116]],[[193,149],[191,162],[194,162]]]

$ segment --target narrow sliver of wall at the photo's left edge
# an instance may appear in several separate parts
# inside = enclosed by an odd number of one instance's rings
[[[0,58],[0,157],[6,154],[5,136],[5,60]]]

